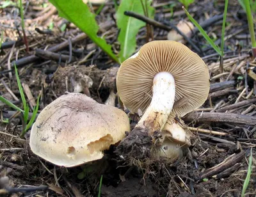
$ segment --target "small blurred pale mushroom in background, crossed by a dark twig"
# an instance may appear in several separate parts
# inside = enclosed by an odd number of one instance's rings
[[[179,29],[179,31],[184,33],[184,35],[191,37],[192,30],[195,29],[195,26],[193,26],[193,23],[191,23],[191,22],[180,20],[180,22],[177,24],[177,28]],[[186,42],[184,40],[183,36],[180,35],[179,33],[177,33],[177,31],[175,31],[175,30],[169,31],[169,33],[167,35],[167,39],[181,42],[181,43]]]

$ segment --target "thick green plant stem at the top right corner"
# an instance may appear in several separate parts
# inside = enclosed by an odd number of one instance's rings
[[[251,12],[251,7],[250,7],[250,1],[249,0],[244,0],[244,5],[245,5],[245,8],[246,8],[248,26],[249,26],[249,31],[250,31],[250,35],[251,35],[252,52],[253,52],[253,56],[256,57],[256,40],[255,40],[255,33],[254,33],[254,28],[253,28],[253,20],[252,20],[252,12]]]

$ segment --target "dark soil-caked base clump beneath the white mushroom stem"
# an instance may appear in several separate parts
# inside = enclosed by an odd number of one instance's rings
[[[163,142],[164,136],[159,131],[148,136],[149,130],[134,128],[116,147],[115,153],[139,168],[147,168],[157,162],[171,163],[183,156],[183,148],[179,144],[169,139]]]

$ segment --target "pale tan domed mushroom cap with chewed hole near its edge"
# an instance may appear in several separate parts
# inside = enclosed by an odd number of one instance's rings
[[[95,161],[130,131],[124,111],[97,103],[81,93],[54,100],[38,115],[30,135],[31,150],[58,166]]]

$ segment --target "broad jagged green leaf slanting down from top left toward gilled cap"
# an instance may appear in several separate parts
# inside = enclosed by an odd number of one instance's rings
[[[90,12],[87,4],[82,0],[49,0],[59,11],[60,17],[63,17],[74,23],[88,37],[95,42],[112,59],[119,62],[115,54],[111,51],[111,45],[106,40],[97,36],[99,26],[95,20],[95,14]]]

